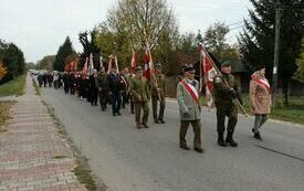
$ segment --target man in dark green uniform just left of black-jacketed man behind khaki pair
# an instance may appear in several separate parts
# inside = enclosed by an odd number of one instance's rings
[[[107,74],[105,72],[105,67],[102,67],[98,75],[97,75],[97,87],[99,92],[99,103],[102,110],[104,112],[106,109],[106,100],[107,100]]]

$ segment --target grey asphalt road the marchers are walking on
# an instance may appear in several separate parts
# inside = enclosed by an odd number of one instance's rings
[[[179,149],[178,105],[167,102],[166,124],[136,129],[134,115],[113,117],[63,89],[42,88],[42,96],[88,158],[108,190],[117,191],[304,191],[304,128],[268,121],[264,141],[252,138],[253,118],[239,117],[238,148],[217,145],[214,110],[205,108],[205,153]],[[188,130],[192,148],[192,129]]]

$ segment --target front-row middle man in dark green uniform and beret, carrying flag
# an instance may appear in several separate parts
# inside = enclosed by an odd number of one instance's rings
[[[224,61],[221,64],[221,74],[213,78],[214,87],[214,104],[217,107],[218,119],[218,145],[226,147],[227,144],[232,147],[238,147],[238,142],[233,139],[233,132],[238,123],[238,105],[235,99],[238,98],[242,103],[240,95],[238,94],[238,84],[231,73],[231,64],[229,61]],[[223,134],[226,130],[224,120],[226,116],[229,118],[227,127],[227,139],[223,140]]]

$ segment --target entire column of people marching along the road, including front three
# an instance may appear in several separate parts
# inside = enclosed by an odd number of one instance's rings
[[[191,125],[195,132],[193,148],[197,152],[203,152],[201,144],[201,106],[199,102],[201,84],[195,79],[196,70],[189,64],[182,68],[182,77],[177,84],[177,100],[180,113],[179,146],[190,150],[186,135]],[[262,140],[261,126],[268,120],[271,107],[270,85],[264,76],[265,67],[260,66],[253,73],[250,82],[250,100],[255,115],[252,128],[253,137]],[[55,88],[63,86],[65,94],[80,97],[80,100],[90,102],[92,106],[99,106],[103,112],[112,106],[113,116],[120,116],[120,108],[130,105],[130,113],[135,114],[135,127],[138,129],[149,128],[148,116],[151,100],[153,118],[155,124],[165,124],[164,114],[166,108],[166,76],[163,74],[161,64],[155,64],[151,76],[145,77],[141,66],[137,66],[130,73],[126,67],[118,71],[117,67],[101,67],[91,75],[84,72],[49,72],[38,76],[40,87],[54,84]],[[221,63],[220,73],[213,78],[213,97],[217,108],[218,145],[221,147],[238,147],[234,140],[234,129],[238,123],[238,104],[242,98],[238,93],[238,83],[231,74],[231,63]],[[158,108],[159,107],[159,108]],[[143,114],[141,114],[143,113]],[[228,123],[226,127],[226,118]],[[224,139],[224,132],[227,136]]]

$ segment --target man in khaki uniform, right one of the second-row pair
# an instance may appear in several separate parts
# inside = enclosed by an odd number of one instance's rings
[[[151,100],[153,100],[153,117],[155,124],[165,124],[164,113],[165,113],[165,97],[166,97],[166,78],[161,73],[161,64],[155,64],[155,73],[151,77]],[[159,102],[159,115],[157,116],[157,103]]]

